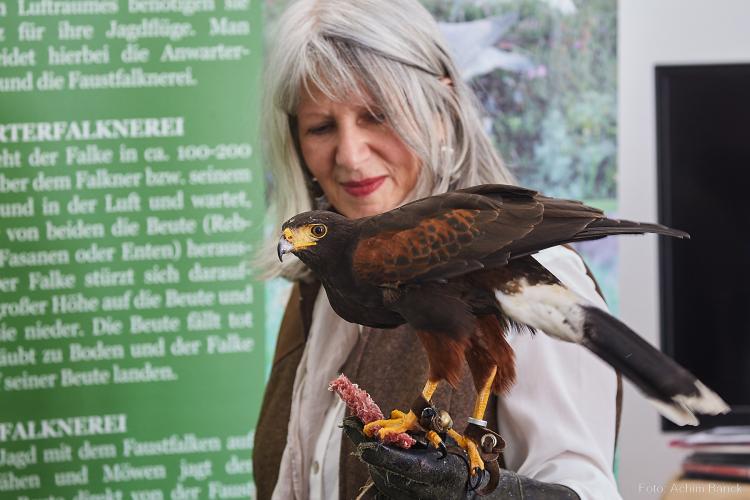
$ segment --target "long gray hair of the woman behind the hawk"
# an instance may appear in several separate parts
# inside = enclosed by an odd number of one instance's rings
[[[271,40],[261,123],[273,227],[315,206],[295,125],[311,87],[338,102],[369,97],[421,159],[417,185],[404,202],[476,184],[515,183],[483,130],[478,101],[437,23],[417,0],[298,0]],[[271,235],[258,256],[265,276],[304,278],[297,259],[276,260],[277,241]]]

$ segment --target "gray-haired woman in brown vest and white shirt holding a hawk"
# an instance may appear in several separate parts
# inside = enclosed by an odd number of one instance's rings
[[[311,208],[362,217],[450,189],[512,183],[437,24],[416,0],[296,2],[279,21],[266,77],[276,223]],[[326,391],[328,381],[343,372],[384,410],[408,408],[425,379],[426,356],[407,326],[346,323],[299,261],[279,268],[274,252],[266,255],[266,269],[296,286],[256,429],[258,497],[354,498],[368,471],[342,440],[345,410]],[[605,307],[574,252],[556,247],[536,257]],[[519,381],[491,402],[486,417],[508,443],[505,467],[517,473],[505,473],[514,488],[505,493],[619,498],[614,372],[546,335],[508,335]],[[455,390],[443,384],[433,401],[462,429],[474,397],[466,376]],[[463,492],[445,497],[454,494]]]

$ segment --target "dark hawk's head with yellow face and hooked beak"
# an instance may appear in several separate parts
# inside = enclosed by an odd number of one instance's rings
[[[351,219],[325,210],[295,215],[281,226],[279,260],[293,253],[313,271],[324,262],[335,262],[346,249],[353,226]]]

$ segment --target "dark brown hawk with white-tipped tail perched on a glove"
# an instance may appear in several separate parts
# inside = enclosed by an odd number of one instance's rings
[[[320,279],[334,311],[351,323],[409,323],[427,351],[429,401],[438,382],[458,382],[468,362],[482,422],[490,391],[515,379],[509,326],[580,344],[630,379],[673,422],[726,413],[722,399],[624,323],[567,289],[532,255],[547,247],[616,234],[687,233],[605,217],[578,201],[517,186],[482,185],[423,198],[383,214],[348,219],[329,211],[296,215],[282,226],[279,259],[299,257]],[[365,426],[382,438],[419,429],[414,411]],[[484,468],[477,443],[449,434],[467,451],[472,474]],[[428,433],[436,447],[440,437]]]

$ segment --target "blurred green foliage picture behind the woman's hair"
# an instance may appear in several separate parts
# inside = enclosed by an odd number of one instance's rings
[[[615,0],[424,0],[440,21],[514,13],[499,48],[536,68],[497,70],[471,85],[521,184],[578,199],[616,195],[617,4]],[[575,5],[566,11],[561,4]]]

